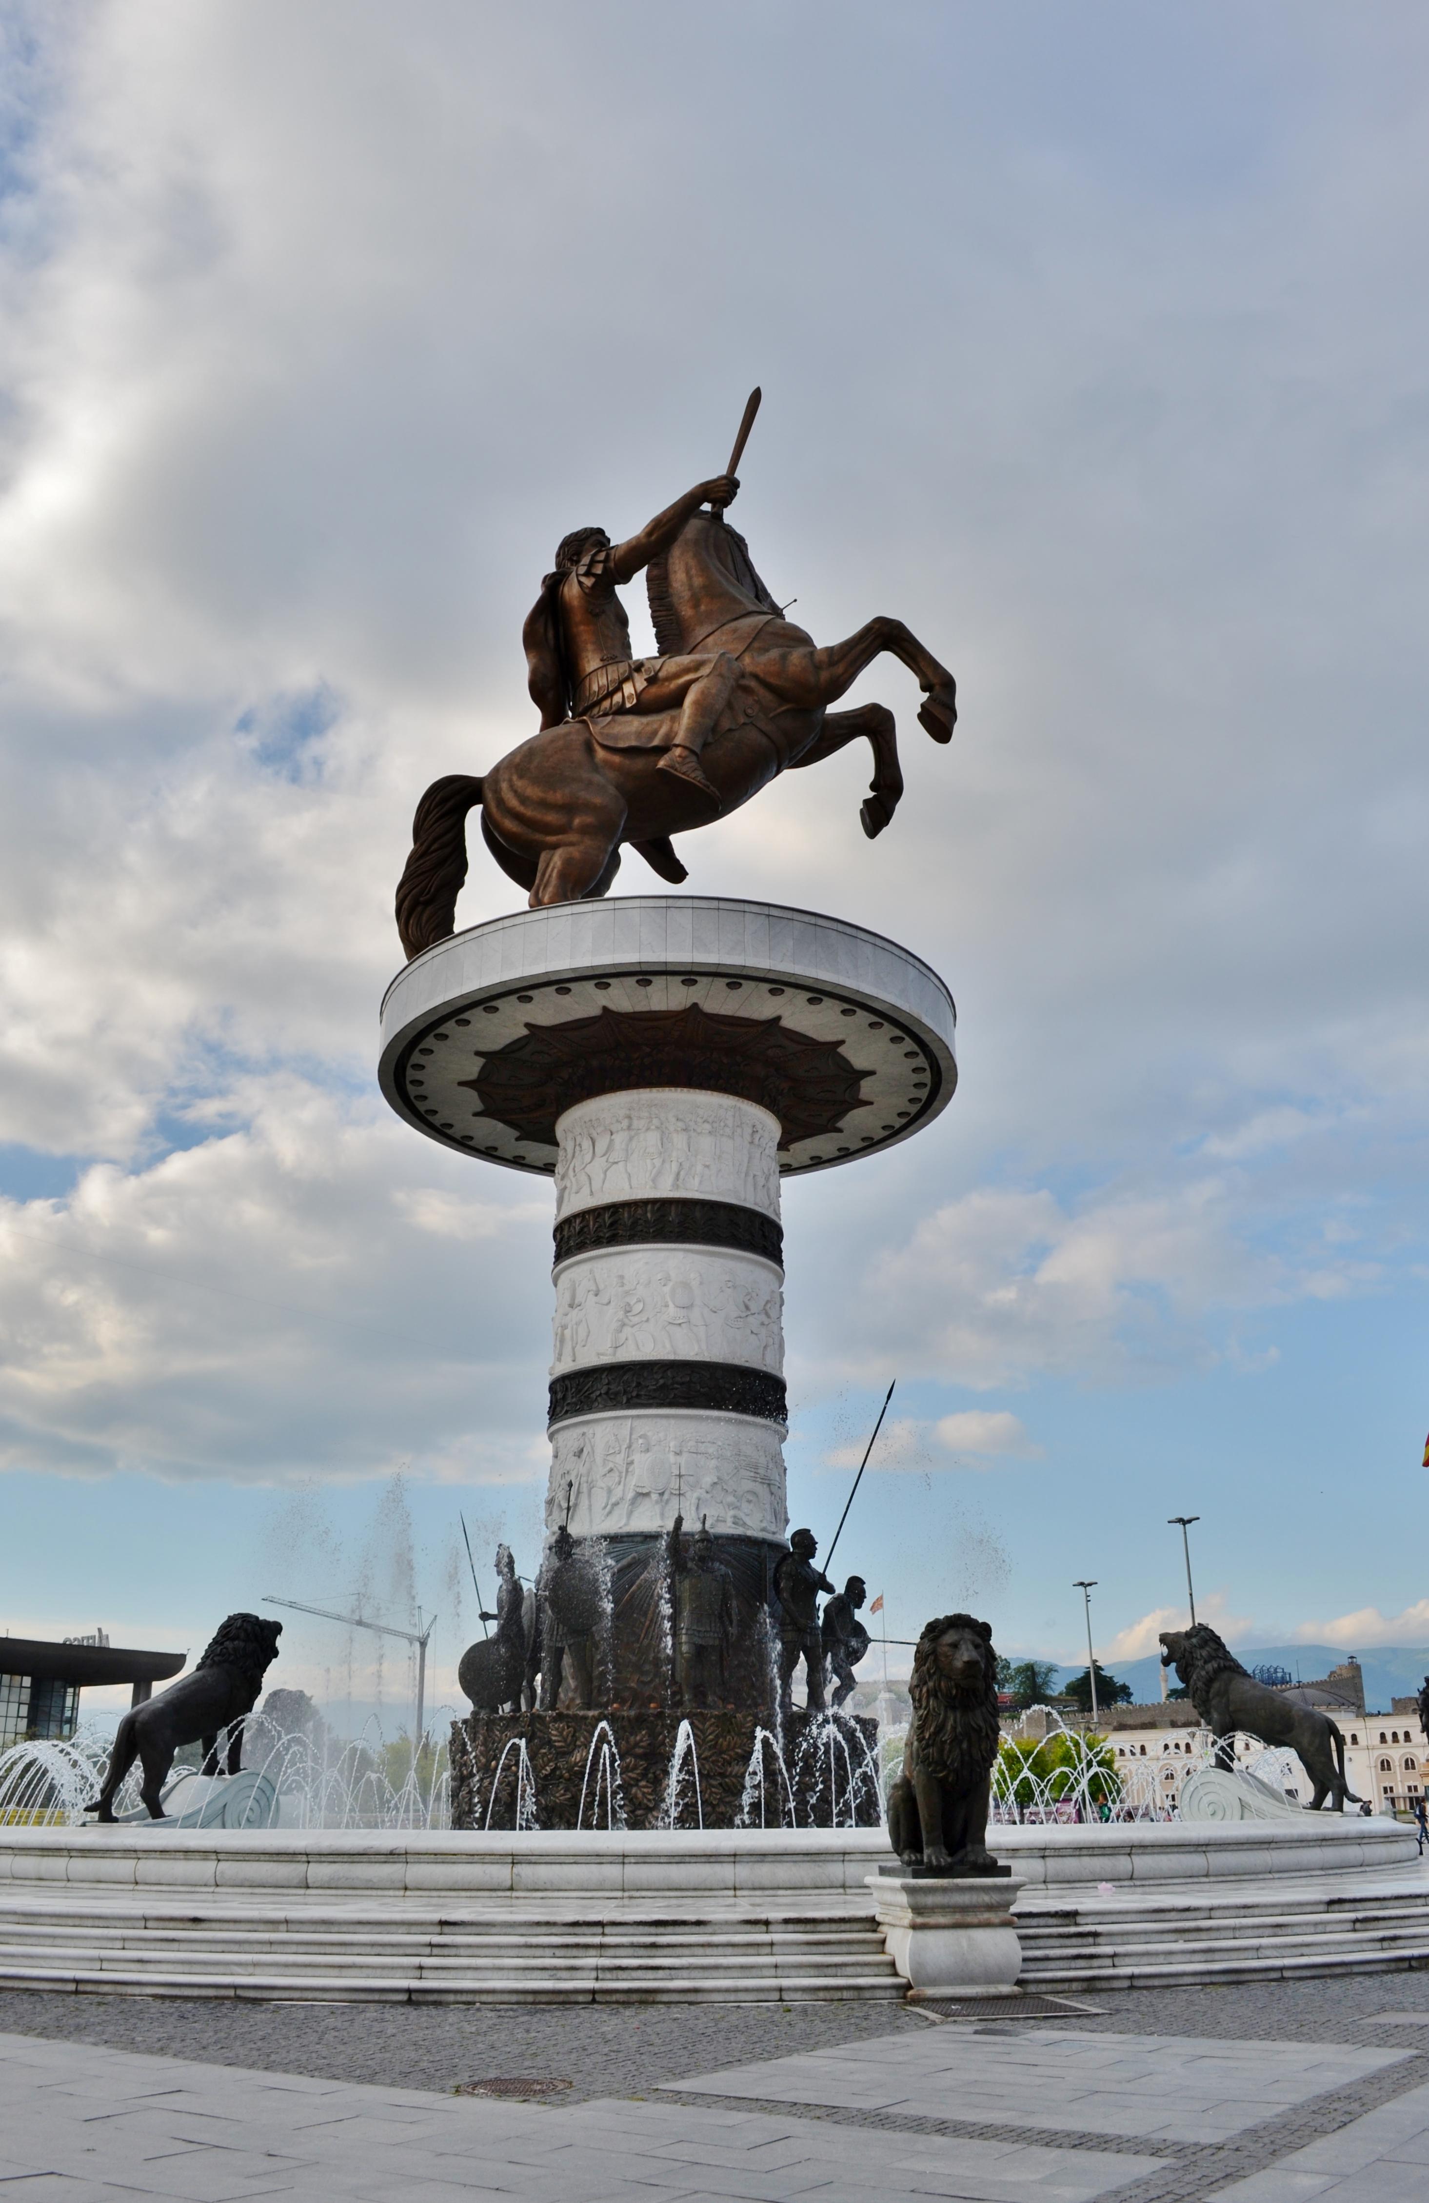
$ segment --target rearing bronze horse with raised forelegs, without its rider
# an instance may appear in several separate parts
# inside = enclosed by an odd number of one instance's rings
[[[733,496],[733,476],[720,480],[731,485],[724,493]],[[883,833],[903,795],[894,714],[879,703],[857,712],[830,712],[830,705],[885,650],[918,679],[925,698],[920,725],[936,742],[951,740],[958,718],[953,676],[901,619],[870,619],[848,641],[819,648],[804,628],[784,619],[751,564],[744,538],[722,511],[685,516],[672,507],[663,520],[678,527],[647,566],[650,612],[663,659],[636,661],[625,672],[636,683],[654,681],[652,701],[658,701],[661,665],[707,654],[716,674],[707,694],[718,716],[694,775],[669,771],[672,745],[683,736],[680,709],[606,716],[601,703],[614,694],[608,685],[603,698],[597,696],[583,716],[572,718],[564,716],[570,707],[566,683],[559,701],[546,705],[539,734],[480,778],[449,773],[434,780],[416,806],[412,855],[396,890],[396,925],[410,958],[456,927],[456,897],[467,879],[465,820],[476,804],[487,848],[528,890],[531,905],[568,903],[606,894],[625,842],[661,879],[678,886],[687,872],[672,835],[738,811],[775,773],[819,764],[854,736],[868,736],[874,753],[874,778],[861,809],[863,833],[870,839]],[[617,573],[617,579],[625,577]],[[559,579],[559,573],[550,575],[548,584]],[[531,621],[526,628],[531,637]],[[645,672],[645,663],[654,672]],[[685,679],[691,679],[689,665]],[[577,687],[577,701],[579,694]]]

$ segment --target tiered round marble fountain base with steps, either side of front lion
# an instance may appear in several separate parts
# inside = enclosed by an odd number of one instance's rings
[[[1411,1828],[993,1828],[1024,1989],[1429,1963]],[[881,1828],[0,1828],[0,1987],[332,2003],[901,1998]]]

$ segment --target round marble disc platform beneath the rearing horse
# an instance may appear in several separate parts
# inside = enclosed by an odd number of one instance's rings
[[[630,1020],[652,1013],[680,1018],[680,1031],[632,1033]],[[779,1110],[788,1174],[923,1130],[958,1084],[953,1038],[938,974],[861,925],[777,903],[625,894],[520,910],[425,949],[388,987],[379,1077],[427,1139],[553,1174],[555,1115],[581,1079],[590,1095],[731,1090],[744,1055],[744,1099]],[[603,1062],[636,1040],[647,1068],[610,1079]],[[718,1051],[722,1075],[672,1079],[669,1053],[700,1049]]]

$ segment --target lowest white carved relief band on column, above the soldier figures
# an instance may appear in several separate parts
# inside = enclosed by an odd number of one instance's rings
[[[546,1529],[566,1520],[570,1485],[575,1538],[617,1531],[656,1538],[676,1507],[689,1524],[707,1516],[716,1535],[782,1538],[788,1509],[779,1439],[775,1423],[700,1410],[647,1408],[557,1423]]]

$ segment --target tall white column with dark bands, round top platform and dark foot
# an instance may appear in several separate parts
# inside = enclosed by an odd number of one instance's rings
[[[495,919],[388,989],[392,1108],[555,1179],[539,1584],[583,1637],[546,1712],[775,1721],[779,1181],[929,1124],[953,1022],[938,974],[879,934],[665,894]],[[713,1575],[672,1553],[676,1516],[709,1531]]]

